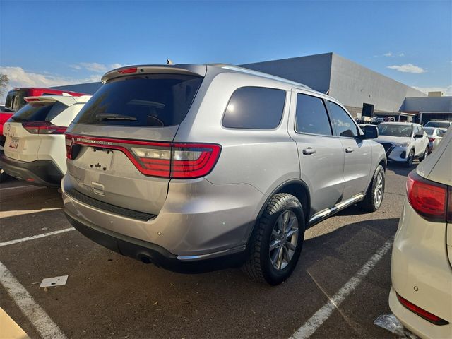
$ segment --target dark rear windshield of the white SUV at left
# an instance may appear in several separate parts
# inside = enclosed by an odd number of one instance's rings
[[[61,102],[33,103],[22,107],[11,117],[13,121],[51,121],[68,108]]]

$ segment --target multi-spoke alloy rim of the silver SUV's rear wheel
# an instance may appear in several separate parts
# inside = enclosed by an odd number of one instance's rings
[[[292,260],[298,243],[298,219],[292,210],[280,214],[270,236],[270,261],[273,268],[283,270]]]

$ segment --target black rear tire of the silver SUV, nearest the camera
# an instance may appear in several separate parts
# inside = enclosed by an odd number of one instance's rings
[[[272,259],[270,258],[270,241],[272,240],[272,237],[274,237],[273,229],[276,227],[276,222],[283,213],[286,213],[287,215],[290,213],[290,215],[296,216],[294,224],[295,222],[298,224],[297,244],[295,246],[295,251],[290,250],[293,251],[291,252],[292,258],[287,261],[284,268],[281,267],[278,270],[273,267],[274,263],[272,263]],[[291,194],[275,194],[267,203],[261,218],[257,220],[255,230],[251,235],[248,258],[246,258],[246,261],[242,266],[244,273],[252,280],[261,282],[266,281],[270,285],[283,283],[284,280],[290,277],[295,266],[297,266],[299,255],[302,252],[304,230],[304,213],[302,204],[299,200]],[[281,237],[283,238],[283,235]],[[278,251],[278,249],[275,250]],[[288,253],[288,251],[289,250],[285,253]],[[283,258],[283,256],[281,256],[281,258]],[[278,258],[276,260],[278,261]]]

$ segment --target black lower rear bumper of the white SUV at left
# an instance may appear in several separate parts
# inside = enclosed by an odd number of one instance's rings
[[[37,186],[59,186],[63,173],[52,160],[25,162],[0,155],[0,167],[6,174]]]

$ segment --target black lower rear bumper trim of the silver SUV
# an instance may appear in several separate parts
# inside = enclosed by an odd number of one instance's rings
[[[206,258],[196,261],[180,260],[177,255],[164,249],[162,246],[143,242],[139,239],[127,237],[124,234],[105,230],[95,225],[86,225],[85,221],[76,220],[66,212],[69,220],[78,232],[88,239],[107,249],[115,251],[123,256],[129,256],[143,263],[153,263],[158,267],[179,273],[203,273],[222,268],[240,266],[245,259],[245,252],[225,254],[215,258]]]

